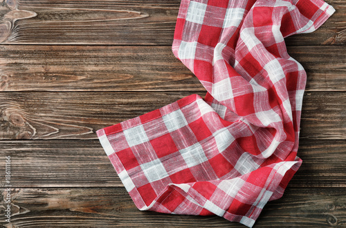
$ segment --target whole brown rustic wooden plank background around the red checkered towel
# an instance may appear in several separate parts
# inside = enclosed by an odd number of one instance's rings
[[[3,1],[3,0],[0,0]],[[346,227],[346,1],[286,39],[307,70],[302,167],[255,227]],[[95,130],[205,94],[171,51],[179,0],[0,3],[2,227],[244,227],[138,211]],[[5,222],[5,156],[12,217]]]

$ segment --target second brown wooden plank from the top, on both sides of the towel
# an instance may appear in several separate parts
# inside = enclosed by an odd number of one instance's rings
[[[307,91],[346,91],[346,46],[288,51]],[[2,91],[205,91],[170,46],[3,45],[0,67]]]

